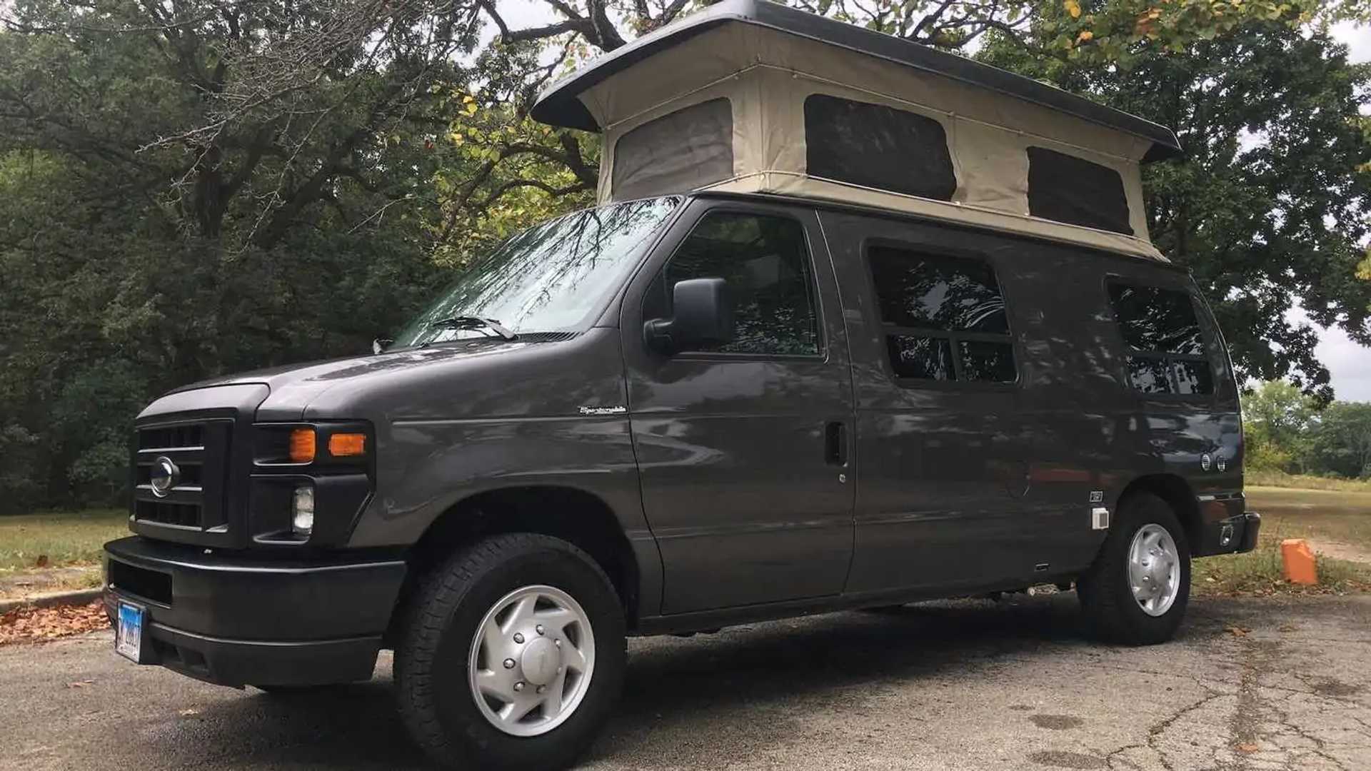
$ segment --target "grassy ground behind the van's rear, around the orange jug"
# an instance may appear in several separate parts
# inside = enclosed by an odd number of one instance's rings
[[[1246,495],[1248,508],[1261,512],[1257,547],[1248,554],[1196,560],[1197,594],[1371,591],[1371,490],[1253,486]],[[1304,538],[1319,554],[1318,586],[1285,580],[1281,541],[1286,538]]]

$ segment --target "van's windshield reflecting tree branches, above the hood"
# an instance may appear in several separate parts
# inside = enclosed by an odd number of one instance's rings
[[[489,320],[515,333],[580,329],[680,204],[679,196],[587,209],[536,225],[462,273],[392,347],[481,336]]]

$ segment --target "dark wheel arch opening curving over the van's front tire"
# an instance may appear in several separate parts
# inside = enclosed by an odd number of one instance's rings
[[[628,628],[636,627],[639,565],[614,510],[599,495],[577,487],[531,484],[474,493],[429,524],[406,556],[409,573],[387,630],[387,642],[393,642],[407,601],[424,575],[461,546],[506,532],[550,535],[590,554],[618,593]]]

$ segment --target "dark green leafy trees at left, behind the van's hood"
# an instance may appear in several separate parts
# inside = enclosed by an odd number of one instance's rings
[[[365,351],[441,281],[425,180],[465,162],[432,137],[469,73],[417,56],[443,49],[440,27],[339,52],[287,117],[248,100],[219,119],[214,95],[263,82],[234,81],[234,56],[329,7],[7,10],[0,510],[118,495],[129,420],[156,394]]]

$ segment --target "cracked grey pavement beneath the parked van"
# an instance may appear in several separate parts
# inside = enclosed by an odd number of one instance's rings
[[[834,613],[629,645],[584,768],[1371,768],[1371,597],[1191,601],[1153,648],[1073,594]],[[114,656],[0,648],[0,768],[424,767],[370,683],[280,698]]]

